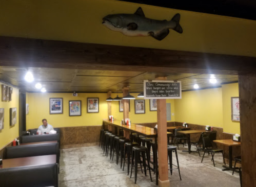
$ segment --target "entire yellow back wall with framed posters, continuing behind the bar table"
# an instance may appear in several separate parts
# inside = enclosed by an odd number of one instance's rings
[[[131,93],[134,97],[138,93]],[[100,112],[87,113],[87,98],[99,97]],[[115,98],[116,94],[113,93],[112,97]],[[122,97],[122,93],[119,94]],[[48,123],[53,127],[70,127],[70,126],[93,126],[101,125],[103,119],[107,119],[107,93],[78,93],[78,97],[73,97],[72,93],[27,93],[27,103],[29,103],[29,114],[27,115],[27,129],[37,128],[42,125],[42,119],[47,119]],[[63,114],[49,114],[49,99],[50,98],[63,98]],[[136,98],[139,100],[139,98]],[[82,101],[82,115],[69,116],[70,100]],[[174,113],[174,101],[167,100],[171,103],[171,112]],[[157,122],[156,111],[149,111],[149,100],[146,100],[146,113],[135,114],[134,100],[130,101],[130,119],[132,123],[152,123]],[[123,112],[119,112],[119,102],[112,101],[112,115],[115,119],[122,120]],[[171,121],[174,121],[175,116],[171,116]]]

